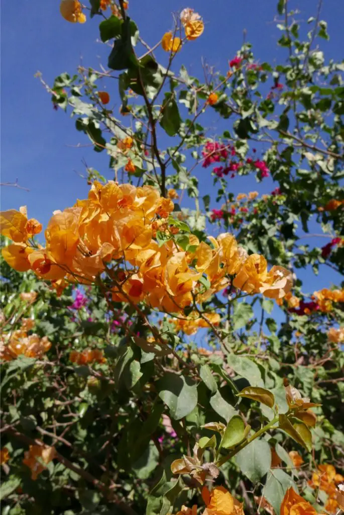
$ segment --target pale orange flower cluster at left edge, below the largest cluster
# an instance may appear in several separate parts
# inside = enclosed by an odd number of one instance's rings
[[[47,336],[40,338],[38,334],[27,334],[32,328],[31,319],[24,319],[21,329],[3,334],[1,340],[0,357],[4,361],[12,361],[19,355],[40,358],[51,347]]]

